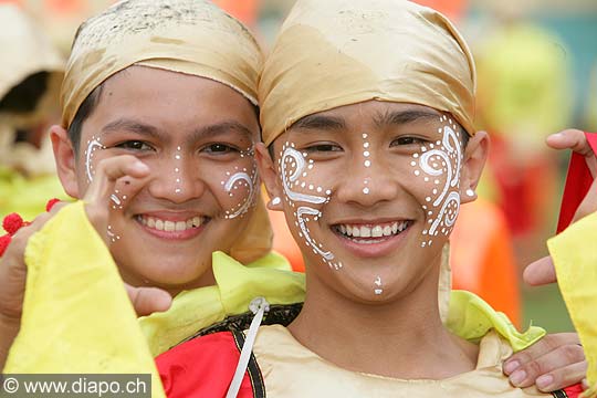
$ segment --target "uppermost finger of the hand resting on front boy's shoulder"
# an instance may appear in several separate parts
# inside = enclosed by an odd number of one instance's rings
[[[531,347],[525,348],[504,362],[504,374],[512,375],[521,366],[534,362],[535,359],[567,345],[579,346],[580,339],[576,333],[554,333],[548,334]]]

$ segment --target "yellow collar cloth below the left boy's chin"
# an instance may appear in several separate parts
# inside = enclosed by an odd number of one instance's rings
[[[245,266],[214,252],[212,264],[216,286],[182,292],[167,312],[139,318],[154,356],[227,316],[245,313],[253,297],[264,296],[271,304],[304,298],[304,275],[287,272],[290,264],[279,254],[270,253]]]

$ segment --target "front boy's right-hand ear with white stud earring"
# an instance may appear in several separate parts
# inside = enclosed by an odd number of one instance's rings
[[[478,132],[469,139],[464,150],[460,177],[460,198],[462,203],[476,199],[476,185],[488,159],[490,138],[486,132]]]

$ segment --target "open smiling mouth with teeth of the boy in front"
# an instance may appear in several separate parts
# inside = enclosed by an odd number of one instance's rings
[[[383,223],[339,223],[332,226],[332,230],[342,238],[355,243],[374,244],[399,235],[411,224],[411,220]]]

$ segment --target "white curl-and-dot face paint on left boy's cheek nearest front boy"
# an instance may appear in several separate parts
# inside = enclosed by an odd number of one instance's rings
[[[245,167],[234,167],[234,171],[237,172],[227,172],[227,176],[229,176],[228,180],[221,181],[224,191],[230,198],[233,198],[234,196],[240,197],[240,202],[224,212],[224,219],[227,220],[235,219],[237,217],[243,217],[249,211],[249,209],[251,209],[251,207],[255,206],[256,203],[258,172],[253,148],[251,147],[251,149],[249,150],[241,151],[240,157],[251,157],[252,160],[250,170]],[[241,187],[247,188],[247,195],[234,193],[238,192],[239,188]]]

